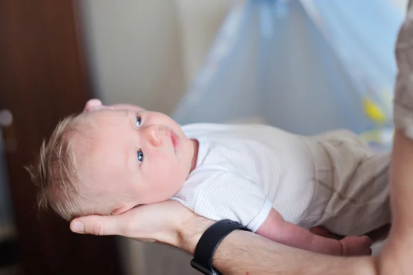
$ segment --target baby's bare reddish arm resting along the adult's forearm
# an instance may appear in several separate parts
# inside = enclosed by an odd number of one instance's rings
[[[274,209],[256,233],[277,243],[322,254],[341,256],[371,254],[372,243],[368,236],[348,236],[340,241],[318,236],[304,227],[284,221],[281,214]]]

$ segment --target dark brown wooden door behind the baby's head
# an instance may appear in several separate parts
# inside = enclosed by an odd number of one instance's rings
[[[114,237],[73,234],[55,214],[38,215],[23,169],[56,123],[93,95],[77,20],[76,1],[0,1],[0,110],[13,116],[3,135],[15,141],[6,163],[25,274],[121,274]]]

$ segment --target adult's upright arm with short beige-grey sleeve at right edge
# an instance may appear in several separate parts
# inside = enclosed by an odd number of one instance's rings
[[[398,74],[394,90],[391,168],[392,228],[381,252],[383,274],[411,274],[413,264],[413,1],[396,41]]]

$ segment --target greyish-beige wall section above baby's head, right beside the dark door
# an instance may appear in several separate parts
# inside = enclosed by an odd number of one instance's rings
[[[82,3],[100,98],[170,112],[184,91],[175,2]]]

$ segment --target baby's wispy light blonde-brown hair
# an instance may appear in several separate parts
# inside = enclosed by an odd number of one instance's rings
[[[74,148],[70,142],[75,132],[81,133],[82,114],[67,116],[54,129],[49,141],[43,141],[36,165],[26,167],[32,182],[39,188],[39,209],[51,207],[70,221],[76,216],[94,214],[86,211],[81,175],[76,167]]]

